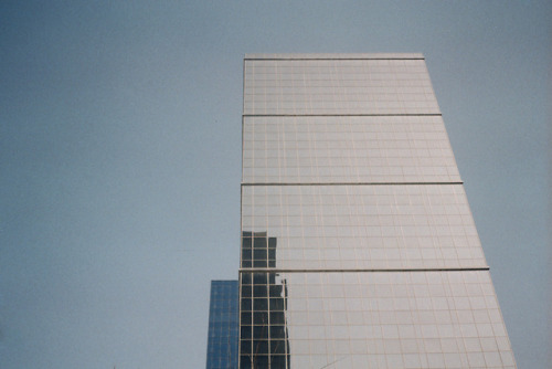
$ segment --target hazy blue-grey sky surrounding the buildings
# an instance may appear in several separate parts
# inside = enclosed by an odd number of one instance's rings
[[[0,3],[0,368],[202,368],[245,53],[422,52],[520,369],[551,351],[552,2]]]

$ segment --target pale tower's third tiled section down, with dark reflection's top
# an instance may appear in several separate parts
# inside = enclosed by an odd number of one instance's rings
[[[243,186],[242,267],[486,267],[461,184]]]

